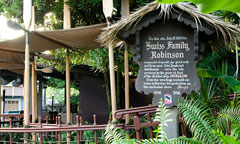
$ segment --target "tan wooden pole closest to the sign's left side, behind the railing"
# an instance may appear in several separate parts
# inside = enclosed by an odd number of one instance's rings
[[[129,16],[129,0],[121,1],[121,19]],[[125,44],[124,50],[124,76],[125,76],[125,109],[129,109],[130,107],[130,98],[129,98],[129,64],[128,64],[128,48],[127,44]],[[126,115],[125,124],[129,124],[130,118],[129,115]],[[129,132],[126,131],[126,137],[129,139]]]

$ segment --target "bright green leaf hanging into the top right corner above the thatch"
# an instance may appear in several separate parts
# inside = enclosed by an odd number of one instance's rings
[[[183,2],[184,0],[157,0],[162,4],[174,4]],[[188,0],[197,5],[203,13],[210,13],[216,10],[225,10],[232,12],[240,12],[239,0]]]

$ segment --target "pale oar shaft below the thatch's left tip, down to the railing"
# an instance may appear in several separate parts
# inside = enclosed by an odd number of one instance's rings
[[[117,110],[116,104],[116,87],[115,87],[115,71],[114,71],[114,56],[113,56],[113,46],[108,46],[109,54],[109,72],[110,72],[110,84],[111,84],[111,102],[112,102],[112,120],[116,122],[114,113]]]

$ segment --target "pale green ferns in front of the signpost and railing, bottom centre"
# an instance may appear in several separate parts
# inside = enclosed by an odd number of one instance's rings
[[[168,139],[165,133],[165,126],[167,122],[171,121],[167,119],[170,115],[168,110],[163,104],[162,99],[159,102],[159,106],[156,112],[156,117],[154,121],[160,122],[157,130],[157,136],[154,139],[143,139],[141,141],[137,141],[136,139],[126,139],[125,133],[122,129],[115,128],[114,125],[108,125],[105,131],[105,142],[107,144],[133,144],[133,143],[140,143],[140,144],[178,144],[178,143],[185,143],[185,144],[201,144],[201,141],[197,141],[195,138],[186,138],[181,136],[179,138]]]

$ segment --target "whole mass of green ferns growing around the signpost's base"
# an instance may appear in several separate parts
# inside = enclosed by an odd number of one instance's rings
[[[105,142],[111,144],[120,143],[141,143],[141,144],[229,144],[239,143],[240,139],[240,108],[227,106],[222,108],[218,115],[213,114],[213,109],[199,98],[187,99],[180,98],[178,109],[182,115],[185,125],[192,133],[192,138],[181,136],[174,139],[168,139],[165,133],[167,122],[171,121],[167,117],[170,115],[162,100],[159,102],[159,107],[156,112],[154,121],[160,122],[157,130],[156,138],[143,139],[126,139],[122,129],[114,128],[114,125],[109,125],[105,132]],[[230,134],[229,134],[229,131]]]

